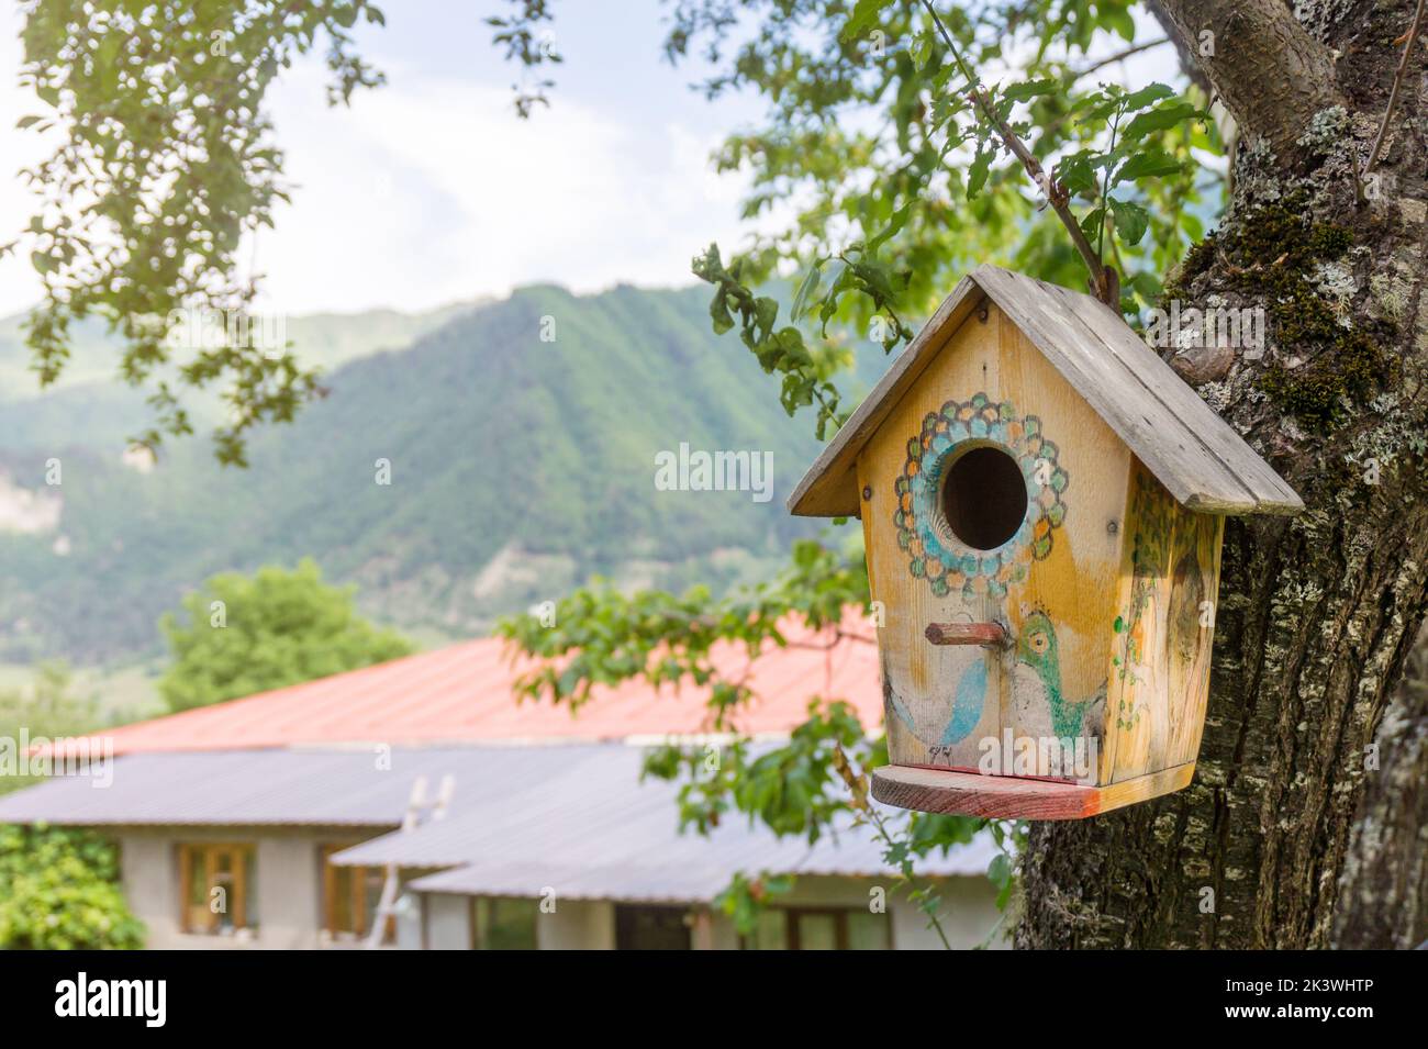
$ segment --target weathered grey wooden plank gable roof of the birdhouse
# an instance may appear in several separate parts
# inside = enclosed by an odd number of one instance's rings
[[[858,512],[855,460],[982,297],[1005,313],[1181,505],[1204,514],[1297,514],[1304,504],[1118,313],[1090,295],[978,265],[828,442],[788,498],[804,517]]]

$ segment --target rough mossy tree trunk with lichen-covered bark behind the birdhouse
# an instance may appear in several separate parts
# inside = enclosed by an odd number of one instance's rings
[[[1192,785],[1035,825],[1017,943],[1408,946],[1428,912],[1428,702],[1397,688],[1428,602],[1421,54],[1377,178],[1357,171],[1417,3],[1158,6],[1240,124],[1231,207],[1167,297],[1267,315],[1261,357],[1187,373],[1307,511],[1230,522]]]

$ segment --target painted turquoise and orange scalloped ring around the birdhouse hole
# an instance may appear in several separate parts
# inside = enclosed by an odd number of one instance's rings
[[[997,549],[972,549],[938,528],[942,477],[967,445],[1010,452],[1027,482],[1027,515]],[[927,579],[937,597],[952,591],[1005,597],[1008,585],[1025,579],[1028,561],[1051,554],[1052,531],[1067,514],[1061,494],[1071,478],[1057,464],[1057,451],[1041,432],[1040,418],[1017,415],[1011,401],[997,402],[984,392],[928,412],[921,434],[907,442],[907,462],[894,482],[892,524],[912,577]]]

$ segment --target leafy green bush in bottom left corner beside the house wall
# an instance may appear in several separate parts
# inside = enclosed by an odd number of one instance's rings
[[[0,949],[139,949],[114,848],[87,831],[0,825]]]

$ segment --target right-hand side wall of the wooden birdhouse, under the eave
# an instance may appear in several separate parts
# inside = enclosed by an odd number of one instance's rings
[[[1111,624],[1105,782],[1195,759],[1210,692],[1224,520],[1194,514],[1141,464],[1131,471]]]

